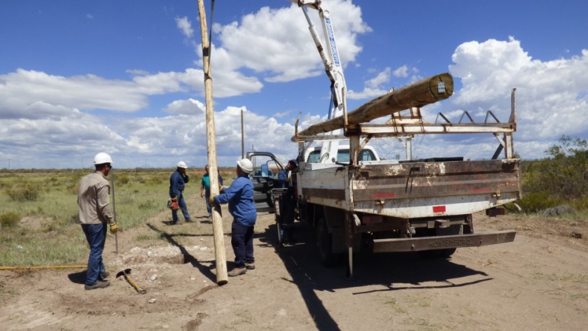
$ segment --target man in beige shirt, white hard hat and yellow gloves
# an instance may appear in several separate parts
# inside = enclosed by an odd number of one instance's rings
[[[106,176],[112,169],[112,158],[106,153],[98,153],[94,157],[95,171],[80,180],[78,189],[78,223],[90,245],[90,256],[87,259],[85,289],[94,290],[106,288],[110,282],[106,278],[110,275],[102,261],[102,251],[106,242],[107,225],[111,233],[116,233],[118,227],[113,218],[110,206],[110,183]]]

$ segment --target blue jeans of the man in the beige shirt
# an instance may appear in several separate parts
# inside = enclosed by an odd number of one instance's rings
[[[106,272],[102,262],[102,251],[106,243],[106,230],[108,225],[82,224],[82,230],[86,236],[87,244],[90,245],[90,256],[87,258],[86,285],[92,285],[98,281],[98,277]]]

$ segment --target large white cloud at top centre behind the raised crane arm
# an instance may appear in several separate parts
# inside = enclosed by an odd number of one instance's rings
[[[323,6],[335,17],[335,37],[343,64],[355,61],[362,49],[356,41],[358,34],[371,31],[361,19],[361,9],[345,0],[323,1]],[[318,15],[312,10],[309,13],[322,36]],[[265,75],[267,82],[288,82],[324,72],[304,15],[294,4],[278,9],[263,7],[244,15],[240,22],[214,24],[213,31],[220,43],[215,56],[223,50],[232,70],[251,69]],[[217,67],[225,70],[225,66]]]

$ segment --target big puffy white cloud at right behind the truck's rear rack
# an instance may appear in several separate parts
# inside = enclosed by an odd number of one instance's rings
[[[426,118],[435,118],[433,111],[441,110],[457,122],[466,110],[476,122],[483,122],[486,111],[491,110],[498,120],[507,122],[511,89],[517,88],[514,150],[522,157],[545,157],[544,150],[562,134],[587,138],[588,50],[581,56],[542,62],[532,59],[520,42],[510,37],[508,41],[463,43],[451,58],[454,64],[449,71],[454,80],[461,79],[463,88],[441,108],[435,104],[421,110]],[[489,158],[498,146],[491,135],[489,140],[484,135],[435,139],[437,146],[460,146],[462,155],[472,158]],[[478,139],[487,142],[479,143]]]

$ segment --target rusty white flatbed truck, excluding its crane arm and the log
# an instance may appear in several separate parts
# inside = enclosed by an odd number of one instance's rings
[[[426,133],[467,131],[493,133],[500,145],[489,160],[464,160],[463,157],[430,157],[418,160],[360,161],[366,148],[360,143],[339,146],[342,153],[332,164],[318,164],[314,148],[300,148],[295,172],[297,218],[316,231],[318,257],[332,267],[349,257],[352,274],[353,252],[373,253],[418,251],[428,257],[448,258],[456,248],[501,244],[514,241],[516,232],[505,230],[477,233],[472,214],[486,211],[489,216],[502,215],[500,206],[521,197],[519,159],[512,148],[516,129],[514,93],[512,113],[507,123],[440,123],[419,120]],[[488,118],[493,117],[489,111]],[[409,126],[405,125],[405,129]],[[381,129],[381,125],[377,127]],[[398,121],[391,125],[398,130]],[[370,132],[370,125],[362,130]],[[415,129],[416,130],[416,129]],[[498,133],[503,133],[500,137]],[[358,137],[355,137],[357,140]],[[361,149],[359,149],[361,148]],[[498,159],[504,150],[505,157]],[[377,153],[374,153],[374,158]],[[253,164],[284,169],[268,152],[247,153]],[[356,164],[345,162],[357,158]],[[344,161],[344,162],[339,162]],[[276,178],[252,178],[258,211],[279,213],[275,200],[282,194]],[[276,193],[277,192],[277,193]],[[273,193],[273,194],[272,194]],[[279,215],[276,216],[279,223]],[[279,239],[279,234],[276,234]]]

